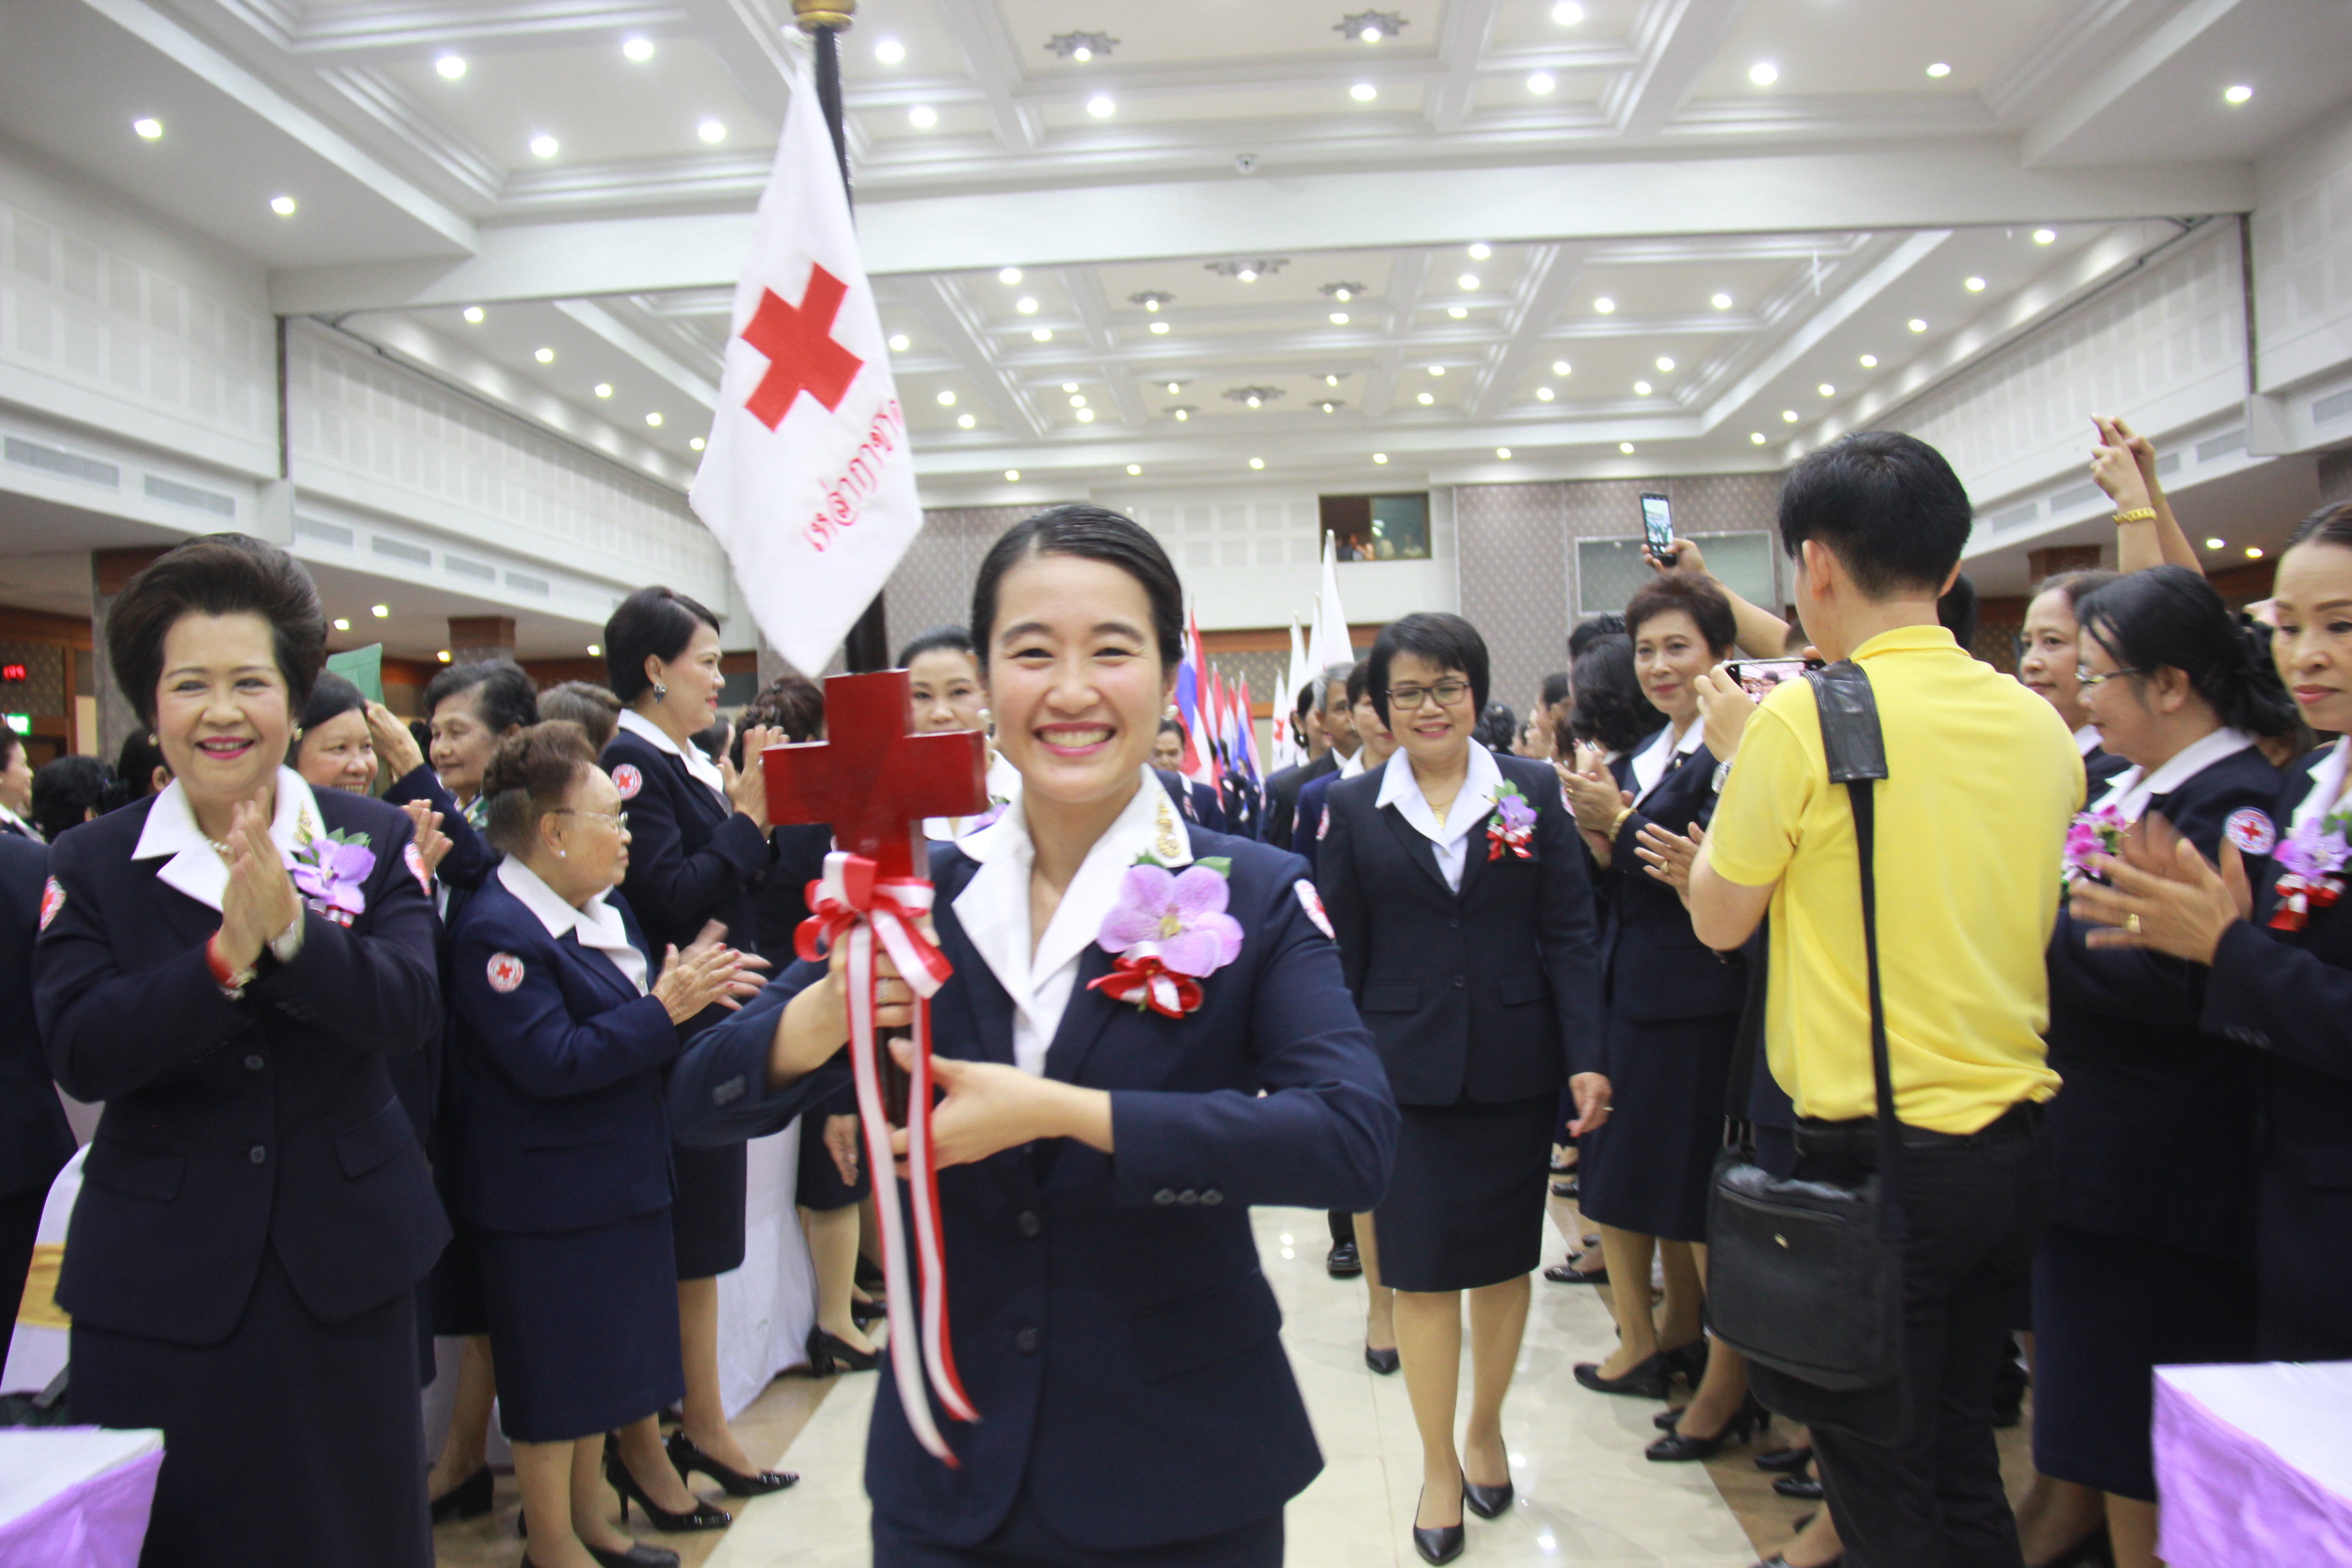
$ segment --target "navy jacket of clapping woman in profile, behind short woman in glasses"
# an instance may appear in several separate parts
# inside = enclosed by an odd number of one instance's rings
[[[767,835],[675,757],[628,729],[600,757],[628,811],[628,907],[661,954],[684,952],[703,922],[727,926],[727,945],[760,952],[753,886],[767,870]],[[635,790],[621,769],[635,769]],[[769,954],[783,957],[783,954]]]

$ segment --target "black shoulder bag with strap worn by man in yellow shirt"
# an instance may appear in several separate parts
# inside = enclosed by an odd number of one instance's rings
[[[1783,1180],[1755,1164],[1752,1143],[1726,1147],[1708,1197],[1708,1328],[1748,1356],[1750,1385],[1771,1410],[1886,1443],[1905,1425],[1903,1138],[1886,1065],[1872,865],[1872,783],[1886,778],[1886,745],[1858,665],[1835,663],[1806,682],[1830,783],[1846,785],[1853,804],[1877,1171],[1858,1187]]]

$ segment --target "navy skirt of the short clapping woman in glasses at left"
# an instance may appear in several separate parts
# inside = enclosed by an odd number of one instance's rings
[[[506,1436],[562,1443],[687,1396],[668,1208],[553,1237],[485,1229],[477,1255]]]

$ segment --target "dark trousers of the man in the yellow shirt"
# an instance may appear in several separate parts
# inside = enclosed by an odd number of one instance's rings
[[[1853,1161],[1799,1143],[1799,1178]],[[1903,1147],[1903,1441],[1816,1429],[1813,1453],[1851,1568],[2023,1568],[1992,1446],[1992,1387],[2025,1312],[2051,1201],[2037,1112],[1973,1138],[1907,1131]]]

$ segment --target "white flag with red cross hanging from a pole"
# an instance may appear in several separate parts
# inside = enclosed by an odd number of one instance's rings
[[[915,454],[849,197],[802,56],[736,284],[694,515],[767,639],[809,675],[915,543]]]

